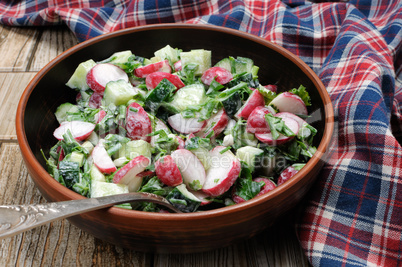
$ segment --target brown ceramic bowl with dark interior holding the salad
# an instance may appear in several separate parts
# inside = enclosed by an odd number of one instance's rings
[[[287,50],[259,37],[228,28],[206,25],[165,24],[125,29],[80,43],[46,65],[24,91],[17,111],[18,142],[28,171],[48,201],[82,199],[46,171],[40,150],[55,144],[58,123],[53,115],[75,92],[65,83],[87,59],[101,60],[112,53],[131,50],[151,57],[171,45],[183,50],[212,50],[213,60],[228,56],[252,58],[260,67],[262,84],[277,83],[280,91],[306,86],[312,97],[312,125],[319,129],[317,153],[292,180],[264,196],[242,204],[191,214],[156,214],[110,208],[69,219],[95,237],[140,251],[200,252],[250,238],[298,204],[324,164],[333,132],[333,110],[327,91],[316,74]],[[213,63],[215,63],[213,62]]]

